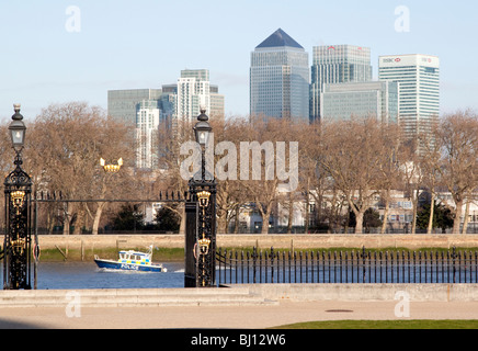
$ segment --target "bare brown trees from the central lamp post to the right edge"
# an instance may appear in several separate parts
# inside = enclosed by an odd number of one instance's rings
[[[232,218],[244,204],[253,203],[262,223],[268,224],[277,202],[288,208],[288,228],[292,226],[294,203],[305,203],[308,211],[309,199],[314,199],[318,223],[327,223],[329,229],[337,230],[344,225],[343,213],[348,208],[355,217],[355,233],[363,231],[364,215],[376,203],[384,205],[382,233],[387,228],[387,218],[392,192],[403,191],[412,203],[411,231],[417,230],[419,199],[428,192],[431,196],[428,233],[434,227],[434,202],[437,192],[448,192],[455,203],[453,233],[459,233],[464,215],[464,230],[468,225],[468,208],[476,202],[478,192],[478,118],[470,111],[443,116],[436,125],[418,126],[412,140],[406,139],[396,124],[378,123],[376,118],[352,118],[351,121],[326,121],[308,124],[287,120],[229,118],[213,123],[215,143],[231,141],[240,149],[241,141],[298,141],[298,188],[296,192],[280,191],[278,174],[268,180],[265,174],[271,165],[262,158],[260,180],[227,179],[219,182],[218,223],[220,231],[226,231]],[[187,131],[187,128],[185,128]],[[164,140],[167,136],[163,136]],[[170,139],[167,165],[174,178],[178,165],[178,146],[184,139]],[[175,145],[174,145],[175,143]],[[275,150],[277,155],[277,149]],[[216,150],[216,171],[237,167],[224,165],[224,151]],[[291,155],[289,155],[291,156]],[[288,156],[288,157],[289,157]],[[286,165],[289,159],[285,160]],[[248,165],[251,167],[251,165]],[[274,168],[272,166],[272,168]],[[275,169],[277,171],[277,169]],[[175,183],[180,182],[175,177]],[[308,218],[308,215],[306,215]],[[346,226],[348,220],[345,220]],[[306,230],[308,224],[306,223]],[[262,226],[268,233],[268,226]]]

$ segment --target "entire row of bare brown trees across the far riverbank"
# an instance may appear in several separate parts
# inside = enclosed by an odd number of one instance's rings
[[[99,200],[60,203],[60,206],[43,204],[41,226],[52,229],[60,222],[65,224],[65,234],[69,234],[70,226],[75,226],[76,233],[82,227],[98,233],[99,227],[121,210],[120,205],[101,200],[155,199],[161,190],[179,193],[187,190],[187,180],[180,173],[180,163],[186,156],[180,155],[179,150],[182,143],[194,139],[192,125],[181,125],[174,134],[160,126],[161,170],[147,172],[134,168],[134,127],[109,118],[101,109],[80,102],[54,104],[44,109],[34,121],[26,118],[25,122],[24,169],[32,176],[35,190],[61,192],[68,199]],[[0,126],[3,151],[0,167],[4,176],[11,171],[13,160],[7,133],[9,123],[4,121]],[[261,157],[260,180],[238,178],[218,182],[217,219],[221,233],[227,231],[231,220],[237,222],[244,206],[254,206],[262,222],[269,224],[277,203],[288,210],[291,229],[294,205],[305,203],[307,212],[309,199],[320,204],[316,207],[318,223],[326,223],[335,230],[343,225],[343,213],[351,211],[355,217],[355,231],[362,233],[364,215],[378,197],[384,204],[384,218],[387,218],[394,190],[406,191],[413,204],[412,233],[417,228],[420,194],[424,191],[431,194],[430,218],[434,218],[437,192],[449,192],[455,202],[453,231],[459,233],[462,207],[467,211],[468,205],[477,201],[474,195],[478,189],[478,118],[471,112],[443,116],[429,133],[419,134],[413,140],[405,140],[398,126],[378,123],[376,118],[308,124],[230,117],[212,121],[212,125],[215,144],[230,141],[237,150],[240,150],[241,141],[260,145],[272,141],[277,156],[275,141],[285,141],[286,146],[298,141],[296,191],[280,191],[281,183],[291,179],[280,179],[277,159],[274,165],[266,163],[265,155]],[[236,163],[224,162],[228,152],[230,150],[216,149],[216,170],[227,173],[236,167],[236,174],[240,174],[239,151]],[[287,152],[286,159],[281,160],[286,167],[294,165]],[[114,174],[105,173],[100,158],[107,163],[123,158],[123,168]],[[247,167],[251,168],[251,165]],[[266,179],[271,167],[274,177]],[[294,170],[288,171],[294,173]],[[180,217],[183,215],[183,206],[166,208]],[[429,231],[433,223],[429,220]],[[383,220],[383,231],[386,225],[387,220]],[[306,222],[306,230],[307,227]],[[262,226],[262,231],[268,231],[268,225]]]

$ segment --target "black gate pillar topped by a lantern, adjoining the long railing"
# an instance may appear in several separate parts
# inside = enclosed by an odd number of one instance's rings
[[[186,287],[216,284],[216,181],[206,174],[205,148],[212,127],[205,110],[201,110],[194,126],[196,141],[202,149],[201,177],[189,182],[186,203],[185,280]]]

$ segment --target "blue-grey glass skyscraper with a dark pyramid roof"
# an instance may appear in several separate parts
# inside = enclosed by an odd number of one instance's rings
[[[250,114],[307,120],[308,100],[308,54],[278,29],[251,53]]]

